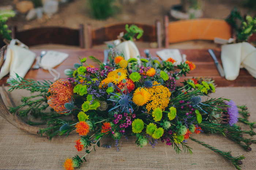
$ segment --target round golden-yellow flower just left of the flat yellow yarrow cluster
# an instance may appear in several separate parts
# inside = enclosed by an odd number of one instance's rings
[[[133,102],[138,105],[142,106],[146,104],[150,100],[150,93],[145,90],[144,88],[138,87],[133,93]]]

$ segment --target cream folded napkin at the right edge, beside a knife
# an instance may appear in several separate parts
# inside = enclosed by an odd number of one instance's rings
[[[235,80],[239,75],[240,68],[245,68],[256,78],[256,48],[250,43],[222,46],[221,61],[227,80]]]

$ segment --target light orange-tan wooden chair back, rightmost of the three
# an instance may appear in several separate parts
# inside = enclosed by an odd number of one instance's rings
[[[225,20],[218,19],[191,19],[169,23],[168,16],[165,16],[165,47],[169,43],[188,40],[214,40],[215,37],[231,38],[231,25]]]

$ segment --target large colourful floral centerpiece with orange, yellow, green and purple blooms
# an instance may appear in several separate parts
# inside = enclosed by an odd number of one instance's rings
[[[178,82],[195,69],[195,64],[186,61],[174,66],[175,60],[161,61],[157,57],[125,60],[123,54],[110,48],[109,61],[102,64],[90,56],[99,68],[80,59],[74,68],[65,70],[67,80],[56,82],[35,82],[33,80],[12,80],[11,90],[26,88],[38,95],[22,99],[23,104],[10,108],[20,116],[32,114],[48,121],[48,127],[39,129],[39,134],[54,135],[77,133],[74,149],[79,155],[64,162],[67,170],[80,167],[102,138],[113,138],[117,151],[121,137],[137,137],[136,145],[156,147],[164,142],[177,153],[185,150],[192,153],[187,140],[195,141],[222,155],[240,169],[243,155],[231,156],[230,152],[216,149],[196,139],[200,133],[217,133],[250,151],[256,143],[252,138],[255,122],[246,120],[249,113],[245,106],[237,107],[230,99],[211,98],[202,101],[202,96],[215,92],[214,80],[193,78]],[[33,98],[41,96],[41,99]],[[29,107],[25,107],[29,106]],[[51,111],[45,111],[50,106]],[[241,114],[244,118],[239,118]],[[251,130],[241,130],[236,123],[247,124]],[[33,124],[33,122],[30,122]],[[191,137],[192,134],[193,137]],[[246,135],[244,135],[246,134]]]

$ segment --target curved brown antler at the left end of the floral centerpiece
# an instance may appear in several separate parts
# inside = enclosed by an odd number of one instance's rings
[[[0,69],[4,62],[4,51],[5,51],[6,47],[7,46],[2,47],[1,51],[0,51]],[[1,94],[0,94],[0,116],[2,116],[5,120],[7,120],[12,125],[14,125],[15,127],[18,127],[19,129],[21,129],[23,131],[26,131],[30,134],[38,134],[38,127],[30,126],[30,125],[22,122],[21,120],[19,120],[17,117],[15,117],[14,115],[12,115],[9,112],[9,110],[7,109],[7,107],[4,104]],[[42,135],[46,136],[46,134],[42,134]]]

